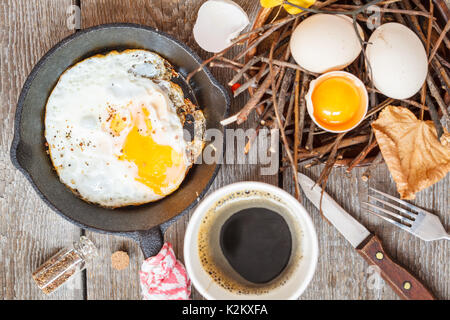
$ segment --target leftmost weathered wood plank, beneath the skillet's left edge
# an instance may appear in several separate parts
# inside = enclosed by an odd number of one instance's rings
[[[31,273],[80,229],[52,212],[9,159],[16,103],[27,75],[44,53],[73,31],[71,0],[0,1],[0,299],[82,299],[82,274],[50,296]]]

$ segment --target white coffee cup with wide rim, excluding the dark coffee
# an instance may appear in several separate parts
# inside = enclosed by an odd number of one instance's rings
[[[288,213],[289,217],[284,218],[289,221],[289,230],[294,235],[292,245],[293,248],[297,248],[297,252],[301,252],[301,255],[294,254],[295,250],[291,254],[288,262],[289,268],[286,267],[286,269],[289,269],[289,275],[283,279],[282,284],[271,287],[262,293],[243,294],[225,289],[207,273],[200,261],[198,244],[201,224],[205,215],[211,214],[211,208],[215,208],[217,203],[228,201],[224,199],[228,199],[231,194],[248,192],[249,190],[260,192],[260,194],[270,194],[272,200],[277,199],[275,201],[286,209],[285,212]],[[195,209],[184,237],[184,262],[188,275],[197,291],[207,299],[297,299],[304,292],[314,275],[318,251],[316,231],[305,208],[286,191],[261,182],[239,182],[213,192]]]

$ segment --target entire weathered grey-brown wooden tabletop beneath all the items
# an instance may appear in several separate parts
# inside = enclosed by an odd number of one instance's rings
[[[9,148],[13,137],[14,111],[22,85],[41,56],[64,37],[73,0],[0,1],[0,299],[140,299],[138,271],[143,256],[133,241],[81,230],[52,212],[36,195],[24,176],[11,164]],[[74,2],[79,4],[80,1]],[[202,0],[81,0],[81,28],[110,22],[134,22],[161,29],[187,43],[202,58],[192,36],[192,27]],[[259,1],[238,0],[250,18]],[[213,70],[226,83],[231,73]],[[247,97],[236,99],[238,110]],[[204,106],[208,107],[208,106]],[[306,170],[317,178],[322,167]],[[393,258],[407,266],[427,284],[438,298],[450,298],[449,242],[426,243],[362,212],[360,201],[367,198],[368,185],[396,194],[385,165],[377,168],[369,184],[362,182],[362,169],[349,175],[334,170],[328,191],[350,213],[377,233]],[[289,173],[260,176],[256,165],[224,165],[210,191],[231,182],[258,180],[278,185],[293,193]],[[414,201],[450,224],[449,176],[420,192]],[[319,236],[320,256],[314,279],[302,299],[397,299],[376,270],[369,268],[349,243],[319,215],[308,201]],[[166,233],[179,259],[183,260],[183,237],[190,214]],[[63,245],[86,234],[100,249],[100,256],[87,272],[80,274],[53,295],[46,297],[31,279],[31,272]],[[131,263],[125,271],[111,268],[110,256],[128,251]],[[202,297],[193,290],[194,299]]]

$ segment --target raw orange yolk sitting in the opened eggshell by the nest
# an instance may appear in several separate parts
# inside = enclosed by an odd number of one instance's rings
[[[352,120],[361,106],[355,84],[345,77],[328,78],[320,82],[312,93],[314,117],[329,125]]]

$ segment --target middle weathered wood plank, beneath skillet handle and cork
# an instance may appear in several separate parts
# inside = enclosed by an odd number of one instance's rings
[[[259,6],[256,1],[236,1],[239,3],[250,16],[254,16]],[[112,1],[82,1],[82,25],[83,28],[111,22],[133,22],[149,25],[158,29],[161,29],[179,40],[185,42],[193,50],[195,50],[202,58],[206,58],[209,54],[201,50],[195,43],[192,36],[192,28],[195,23],[196,13],[203,1],[148,1],[148,0],[112,0]],[[219,81],[225,83],[232,77],[232,73],[227,70],[212,70],[213,74]],[[240,106],[244,103],[244,97],[233,101],[231,112],[239,110]],[[204,106],[207,108],[208,106]],[[254,165],[224,165],[219,172],[211,190],[215,190],[221,186],[227,185],[235,181],[244,180],[258,180],[265,181],[277,185],[277,176],[260,176],[259,168]],[[187,223],[189,221],[191,213],[188,213],[181,219],[179,219],[173,226],[166,232],[166,241],[170,241],[173,244],[175,253],[180,260],[183,260],[183,239],[184,232],[186,230]],[[105,247],[106,250],[102,250],[103,262],[109,259],[110,254],[113,252],[111,243],[118,246],[119,243],[125,242],[129,246],[134,261],[137,261],[129,271],[131,274],[137,274],[140,263],[142,261],[142,255],[139,253],[139,249],[136,244],[131,243],[122,238],[99,235],[89,233],[89,237],[94,238],[96,243],[99,243],[101,247]],[[124,298],[124,299],[139,299],[139,288],[131,288],[130,280],[127,277],[122,277],[120,273],[110,273],[104,269],[103,265],[97,265],[97,270],[88,271],[88,288],[87,295],[89,299],[109,299],[109,298]],[[91,269],[92,270],[92,269]],[[103,277],[98,277],[99,272],[103,274]],[[137,279],[137,278],[134,278]],[[117,283],[122,292],[119,296],[116,296],[112,288],[112,283]],[[194,299],[200,299],[201,296],[193,291]]]

